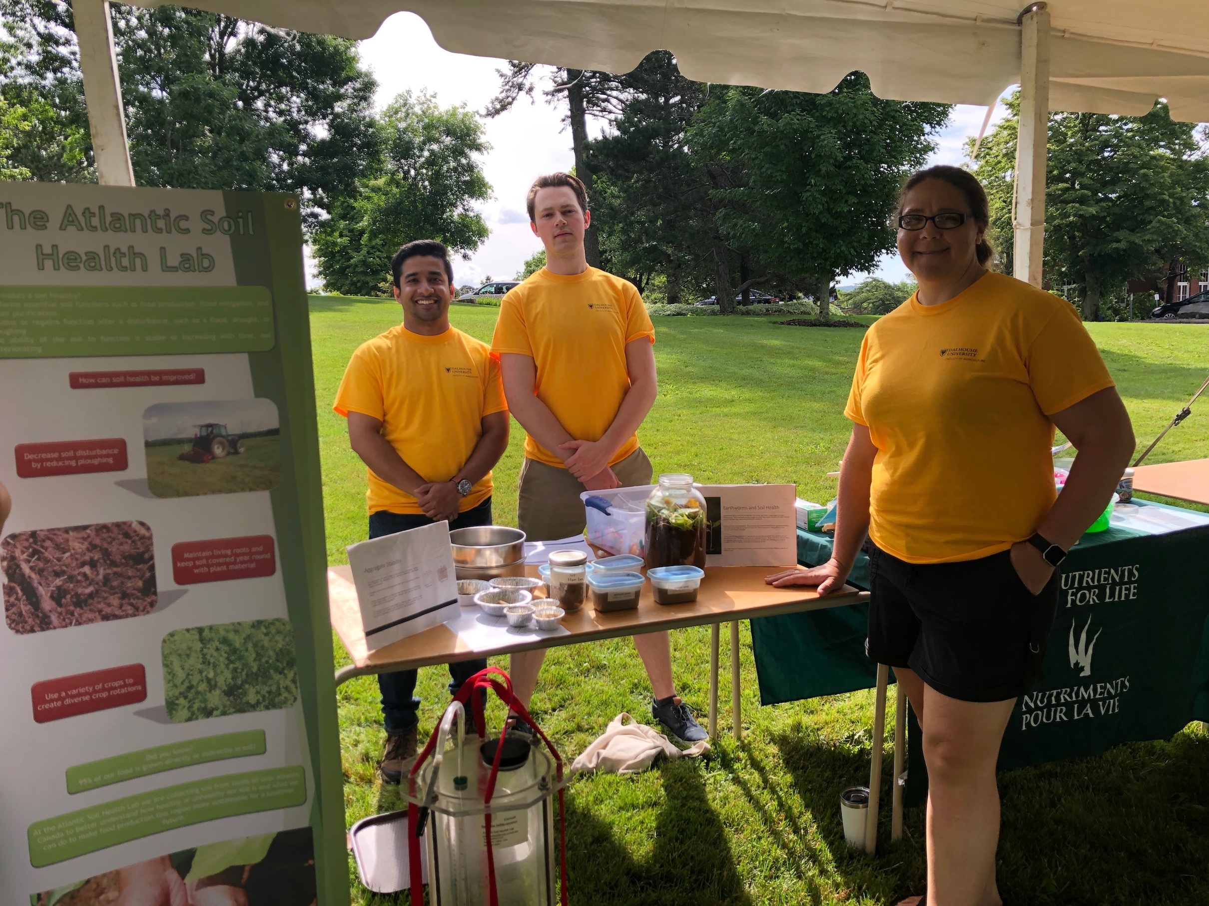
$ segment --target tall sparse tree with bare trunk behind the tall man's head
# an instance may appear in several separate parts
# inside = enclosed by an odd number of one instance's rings
[[[575,175],[588,190],[588,198],[594,203],[595,179],[592,165],[588,159],[588,117],[615,116],[620,112],[620,86],[617,76],[609,72],[597,72],[586,69],[562,69],[557,66],[538,66],[534,63],[508,60],[508,66],[498,69],[499,93],[487,104],[485,116],[494,117],[510,110],[522,94],[533,99],[537,79],[549,70],[553,85],[544,94],[551,103],[566,100],[567,118],[571,127],[571,149],[575,157]],[[584,252],[588,263],[600,267],[600,237],[595,227],[584,231]]]

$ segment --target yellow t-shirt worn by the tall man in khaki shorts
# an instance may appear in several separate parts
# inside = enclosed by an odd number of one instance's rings
[[[595,267],[571,277],[542,268],[504,296],[491,352],[532,356],[537,397],[572,437],[598,441],[630,389],[625,344],[638,337],[654,343],[655,329],[629,280]],[[637,448],[635,434],[609,465]],[[525,455],[565,467],[530,436],[525,437]]]

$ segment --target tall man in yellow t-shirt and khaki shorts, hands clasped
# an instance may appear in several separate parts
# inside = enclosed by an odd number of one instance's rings
[[[583,182],[540,176],[527,207],[546,265],[504,296],[491,352],[526,432],[517,525],[530,540],[551,541],[584,530],[584,490],[650,483],[637,430],[658,391],[655,329],[634,284],[588,266]],[[635,635],[634,645],[650,678],[652,716],[684,742],[705,739],[676,696],[669,634]],[[544,656],[511,656],[513,689],[526,705]]]

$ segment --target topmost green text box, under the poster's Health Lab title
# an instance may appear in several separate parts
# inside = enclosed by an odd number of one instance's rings
[[[265,286],[0,286],[0,359],[272,348]]]

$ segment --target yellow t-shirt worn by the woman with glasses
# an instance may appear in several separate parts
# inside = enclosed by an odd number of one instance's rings
[[[912,296],[864,335],[844,412],[878,448],[873,542],[948,563],[1031,536],[1055,498],[1047,417],[1112,385],[1057,296],[996,273],[938,306]]]

